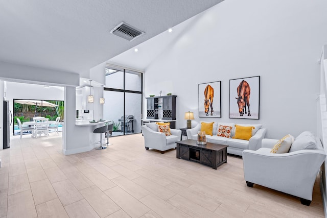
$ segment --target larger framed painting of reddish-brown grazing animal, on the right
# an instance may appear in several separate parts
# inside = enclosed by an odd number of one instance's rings
[[[229,118],[259,119],[260,76],[229,80]]]

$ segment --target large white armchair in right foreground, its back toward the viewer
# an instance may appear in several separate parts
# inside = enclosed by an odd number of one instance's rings
[[[247,186],[258,184],[289,193],[309,206],[317,173],[326,155],[318,138],[311,137],[309,142],[314,144],[311,143],[311,148],[308,149],[308,140],[297,141],[298,137],[288,153],[270,153],[278,140],[266,138],[262,140],[263,148],[256,151],[244,150],[244,179]],[[297,149],[294,148],[295,144]]]

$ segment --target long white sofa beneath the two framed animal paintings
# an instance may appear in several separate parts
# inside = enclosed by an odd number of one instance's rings
[[[235,125],[253,126],[255,127],[255,129],[252,130],[252,137],[249,140],[225,138],[225,137],[217,136],[218,127],[220,125],[233,127],[233,129],[231,130],[231,137],[235,135]],[[197,134],[198,131],[200,130],[201,130],[201,123],[192,129],[186,130],[188,139],[197,140]],[[207,142],[224,144],[228,146],[227,147],[228,154],[235,154],[235,155],[242,156],[243,150],[249,149],[255,151],[261,148],[261,140],[265,137],[266,131],[267,131],[266,128],[263,128],[261,124],[249,125],[249,124],[234,124],[234,123],[214,123],[213,135],[212,136],[206,135],[206,138],[207,138]]]

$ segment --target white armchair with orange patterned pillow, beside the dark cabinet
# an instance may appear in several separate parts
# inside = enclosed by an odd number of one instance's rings
[[[175,149],[176,141],[179,141],[182,135],[181,130],[170,129],[172,135],[166,136],[165,133],[158,132],[158,125],[156,123],[146,123],[144,126],[141,126],[141,129],[144,136],[145,149],[156,149],[161,151],[161,154],[164,154],[169,149]]]

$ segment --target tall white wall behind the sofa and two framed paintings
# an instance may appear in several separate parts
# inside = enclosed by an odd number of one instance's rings
[[[176,128],[190,110],[197,121],[261,123],[271,138],[315,132],[326,8],[323,0],[224,1],[197,15],[146,69],[145,96],[178,95]],[[260,120],[229,119],[229,80],[252,76],[261,76]],[[221,81],[222,118],[199,118],[198,84],[213,81]]]

